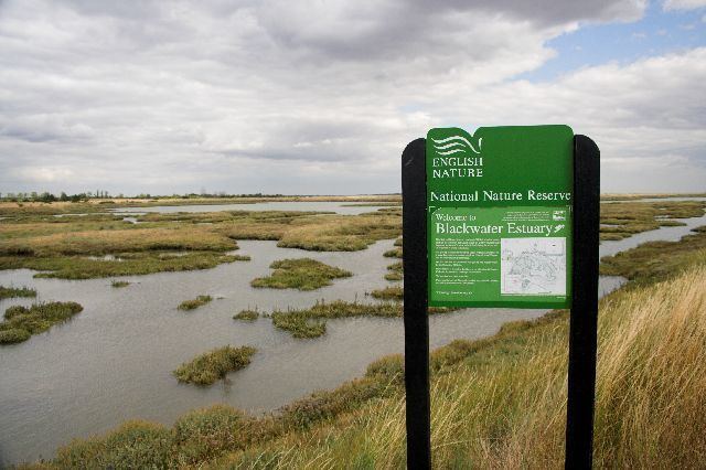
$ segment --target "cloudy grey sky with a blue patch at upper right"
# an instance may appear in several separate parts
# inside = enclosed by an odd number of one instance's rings
[[[706,191],[706,0],[0,0],[3,193],[397,192],[429,128],[532,124]]]

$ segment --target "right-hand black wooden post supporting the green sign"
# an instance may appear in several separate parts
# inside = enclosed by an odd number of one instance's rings
[[[590,469],[592,466],[599,211],[600,151],[588,137],[575,136],[566,469]]]

